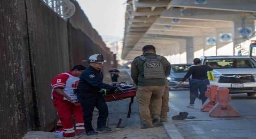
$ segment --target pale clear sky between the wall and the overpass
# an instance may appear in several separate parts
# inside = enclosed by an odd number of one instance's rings
[[[126,0],[76,0],[101,36],[123,38]]]

